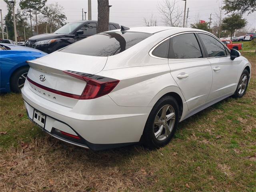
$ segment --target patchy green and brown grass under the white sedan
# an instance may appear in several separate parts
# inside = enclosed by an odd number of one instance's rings
[[[246,95],[184,120],[167,146],[92,152],[26,118],[20,94],[0,96],[0,191],[256,191],[256,56]]]

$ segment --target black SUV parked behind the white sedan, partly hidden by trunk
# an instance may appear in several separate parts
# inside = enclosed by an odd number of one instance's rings
[[[70,22],[54,33],[30,37],[26,41],[25,46],[36,48],[46,53],[52,53],[76,41],[96,34],[97,24],[98,21],[94,20]],[[115,29],[120,29],[119,24],[110,22],[108,30]]]

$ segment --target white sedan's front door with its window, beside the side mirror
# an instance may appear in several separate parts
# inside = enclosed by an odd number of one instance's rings
[[[228,49],[214,36],[198,33],[212,67],[212,88],[207,101],[232,94],[237,87],[239,60],[232,61]]]

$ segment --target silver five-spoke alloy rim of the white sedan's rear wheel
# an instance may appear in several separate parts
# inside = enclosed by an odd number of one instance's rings
[[[163,141],[171,134],[175,124],[175,110],[171,105],[163,106],[154,120],[154,136]]]

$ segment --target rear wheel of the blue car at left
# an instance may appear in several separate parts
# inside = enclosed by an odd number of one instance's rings
[[[23,67],[16,70],[10,78],[10,88],[12,92],[20,93],[20,89],[23,87],[29,67]]]

